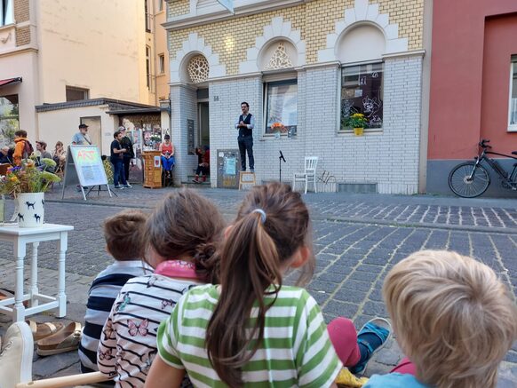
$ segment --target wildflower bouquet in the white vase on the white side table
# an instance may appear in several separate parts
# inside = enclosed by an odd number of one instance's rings
[[[32,159],[25,159],[21,166],[10,167],[4,176],[0,176],[0,194],[16,197],[20,193],[44,193],[60,177],[48,168],[55,168],[56,162],[52,159],[42,159],[37,166]]]

